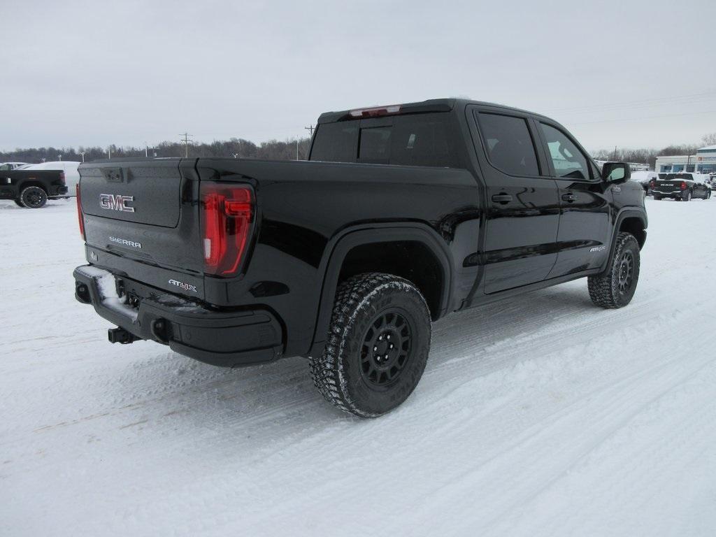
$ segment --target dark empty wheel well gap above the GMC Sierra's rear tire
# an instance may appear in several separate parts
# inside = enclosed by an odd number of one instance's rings
[[[343,260],[339,284],[364,272],[384,272],[412,281],[425,297],[432,319],[440,316],[445,279],[440,261],[424,243],[390,241],[355,246]]]

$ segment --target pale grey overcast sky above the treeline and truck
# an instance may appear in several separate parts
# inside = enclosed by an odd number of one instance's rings
[[[0,150],[306,135],[470,97],[589,150],[716,132],[716,1],[0,0]]]

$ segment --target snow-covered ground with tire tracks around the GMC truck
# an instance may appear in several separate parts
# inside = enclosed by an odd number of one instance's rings
[[[361,421],[300,358],[110,345],[74,203],[0,203],[0,535],[715,535],[716,201],[647,205],[630,306],[576,281],[450,316]]]

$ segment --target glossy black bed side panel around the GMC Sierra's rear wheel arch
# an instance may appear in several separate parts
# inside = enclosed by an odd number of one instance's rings
[[[273,308],[286,323],[289,355],[308,352],[326,266],[347,231],[386,223],[427,226],[458,268],[465,252],[477,249],[480,191],[468,170],[218,159],[200,159],[197,168],[201,180],[247,182],[256,191],[259,232],[246,273],[228,284],[226,299]],[[460,233],[460,226],[474,232]],[[463,288],[470,289],[475,271],[462,274],[470,282]],[[256,289],[272,283],[287,292],[256,296]]]

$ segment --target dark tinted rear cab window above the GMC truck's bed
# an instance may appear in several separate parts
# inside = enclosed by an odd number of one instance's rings
[[[309,160],[464,168],[453,121],[436,112],[322,123]]]

